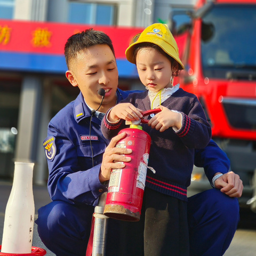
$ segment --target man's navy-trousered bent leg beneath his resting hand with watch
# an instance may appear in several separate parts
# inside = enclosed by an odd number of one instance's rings
[[[233,239],[238,221],[237,198],[218,189],[188,198],[190,255],[223,255]]]

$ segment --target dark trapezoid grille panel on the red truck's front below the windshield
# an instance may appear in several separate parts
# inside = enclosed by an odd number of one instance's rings
[[[231,126],[256,130],[256,100],[224,98],[222,104]]]

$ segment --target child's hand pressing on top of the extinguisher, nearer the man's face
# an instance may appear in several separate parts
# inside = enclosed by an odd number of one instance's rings
[[[131,122],[142,118],[142,112],[141,109],[135,108],[131,103],[120,103],[110,110],[108,120],[115,122],[118,119],[124,119]]]

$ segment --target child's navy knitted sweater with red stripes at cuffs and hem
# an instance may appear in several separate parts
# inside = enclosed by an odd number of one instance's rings
[[[150,109],[148,91],[132,93],[120,103],[124,102],[130,102],[143,111]],[[194,165],[194,150],[207,146],[211,139],[211,126],[196,95],[182,89],[174,92],[162,106],[179,111],[182,114],[182,126],[177,132],[172,127],[159,132],[147,124],[141,124],[143,131],[146,131],[152,140],[148,166],[156,171],[153,173],[148,169],[146,187],[187,201],[187,187],[190,185]],[[120,130],[127,128],[123,119],[111,124],[106,116],[101,123],[101,130],[107,139],[113,138]]]

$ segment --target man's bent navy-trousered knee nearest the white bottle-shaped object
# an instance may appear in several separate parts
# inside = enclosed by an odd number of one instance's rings
[[[54,201],[38,210],[38,234],[56,255],[85,255],[94,207]]]

